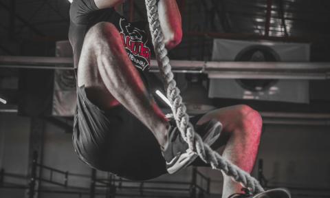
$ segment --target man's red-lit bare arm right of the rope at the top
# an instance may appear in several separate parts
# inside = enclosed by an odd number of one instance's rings
[[[181,43],[181,14],[176,0],[160,0],[157,6],[166,48],[170,50]]]

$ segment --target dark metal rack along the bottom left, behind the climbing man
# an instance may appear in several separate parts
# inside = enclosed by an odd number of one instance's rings
[[[49,175],[38,173],[49,172]],[[38,153],[34,152],[30,176],[19,176],[22,183],[28,180],[27,185],[8,184],[5,178],[13,177],[0,170],[0,188],[21,188],[28,190],[28,197],[33,198],[38,193],[96,195],[104,197],[207,197],[210,195],[210,178],[200,173],[197,168],[192,168],[191,181],[131,181],[108,174],[107,178],[97,177],[97,170],[91,169],[91,175],[80,175],[58,170],[50,166],[38,163]],[[61,180],[54,179],[54,175],[60,176]],[[89,188],[85,186],[70,186],[70,177],[89,179]],[[17,176],[18,177],[18,176]],[[200,181],[200,182],[198,182]],[[43,184],[52,184],[57,188],[47,188]],[[206,184],[206,185],[203,185]]]

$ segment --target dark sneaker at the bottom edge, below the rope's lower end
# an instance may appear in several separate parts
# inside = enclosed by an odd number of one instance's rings
[[[252,195],[248,190],[244,191],[245,193],[236,193],[228,198],[291,198],[290,192],[285,188],[274,188],[256,195]]]

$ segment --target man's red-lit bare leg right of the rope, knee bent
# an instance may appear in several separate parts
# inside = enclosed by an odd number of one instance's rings
[[[197,124],[213,118],[223,124],[220,138],[227,141],[223,157],[251,173],[261,136],[262,120],[259,113],[246,105],[236,105],[212,111],[204,115]],[[231,177],[223,175],[223,198],[241,192],[241,188]]]

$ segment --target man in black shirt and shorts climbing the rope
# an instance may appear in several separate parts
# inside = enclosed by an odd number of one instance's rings
[[[188,165],[206,166],[195,159],[197,155],[148,91],[151,47],[146,24],[129,23],[120,16],[115,11],[120,3],[74,0],[70,8],[69,40],[77,74],[76,153],[89,166],[128,179],[152,179]],[[170,50],[181,41],[179,9],[175,0],[160,0],[157,6]],[[252,171],[262,125],[257,111],[236,105],[197,115],[190,122],[206,144],[224,146],[223,157]],[[239,183],[223,177],[223,197],[250,196]]]

